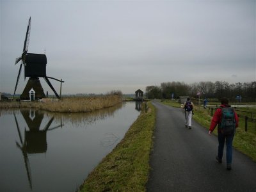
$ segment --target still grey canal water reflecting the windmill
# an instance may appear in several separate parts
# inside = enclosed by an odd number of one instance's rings
[[[76,191],[139,114],[135,102],[92,113],[0,110],[0,191]]]

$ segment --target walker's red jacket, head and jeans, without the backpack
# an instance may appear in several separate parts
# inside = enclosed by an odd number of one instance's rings
[[[222,98],[220,108],[216,109],[214,115],[212,116],[211,125],[210,125],[210,128],[209,128],[209,134],[210,135],[211,135],[212,131],[215,129],[215,127],[217,125],[220,125],[220,123],[221,123],[221,110],[222,110],[222,108],[229,108],[229,107],[230,107],[230,105],[228,104],[228,99],[227,98]],[[236,120],[236,128],[237,128],[239,118],[238,118],[236,112],[235,112],[234,118]],[[235,133],[234,134],[223,134],[223,132],[221,132],[220,127],[218,127],[219,146],[218,146],[218,156],[216,156],[216,161],[218,161],[218,163],[222,163],[223,150],[224,150],[224,145],[225,145],[225,141],[226,141],[226,145],[227,145],[227,149],[226,149],[227,170],[231,170],[232,143],[233,143],[234,135],[235,135]]]

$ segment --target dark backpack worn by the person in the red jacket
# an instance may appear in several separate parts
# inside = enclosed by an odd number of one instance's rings
[[[225,135],[232,135],[236,131],[235,111],[233,108],[221,108],[221,122],[219,129]]]

